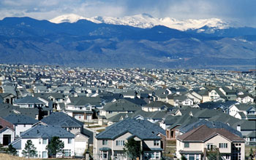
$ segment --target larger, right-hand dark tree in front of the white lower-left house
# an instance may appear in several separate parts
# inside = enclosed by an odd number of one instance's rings
[[[50,156],[55,156],[56,154],[61,152],[64,148],[64,142],[59,139],[59,137],[52,137],[50,140],[50,143],[46,146],[46,149],[48,150],[48,154]]]

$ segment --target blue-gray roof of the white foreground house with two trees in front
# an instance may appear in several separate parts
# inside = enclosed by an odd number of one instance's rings
[[[51,126],[51,125],[42,125],[38,124],[31,129],[26,130],[21,133],[21,138],[33,138],[33,137],[43,137],[43,138],[51,138],[51,137],[75,137],[72,133],[67,130],[59,127],[59,126]]]

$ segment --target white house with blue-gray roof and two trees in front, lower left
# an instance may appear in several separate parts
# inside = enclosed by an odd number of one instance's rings
[[[46,146],[50,143],[52,137],[59,137],[64,142],[63,153],[57,153],[56,157],[72,157],[75,156],[75,135],[67,130],[47,124],[37,124],[26,132],[21,133],[20,138],[11,144],[17,150],[18,156],[23,156],[22,151],[25,148],[27,140],[31,140],[36,149],[34,158],[48,158],[48,150]]]

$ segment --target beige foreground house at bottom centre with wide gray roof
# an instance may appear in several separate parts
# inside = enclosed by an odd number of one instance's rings
[[[147,120],[123,119],[94,138],[94,159],[127,159],[124,144],[134,138],[140,143],[140,159],[161,159],[165,130]]]

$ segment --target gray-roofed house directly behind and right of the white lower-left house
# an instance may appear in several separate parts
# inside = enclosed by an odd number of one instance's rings
[[[83,122],[62,112],[54,112],[40,122],[43,124],[59,126],[75,135],[75,156],[83,156],[89,147],[89,135],[84,133]],[[40,123],[39,122],[39,123]]]

